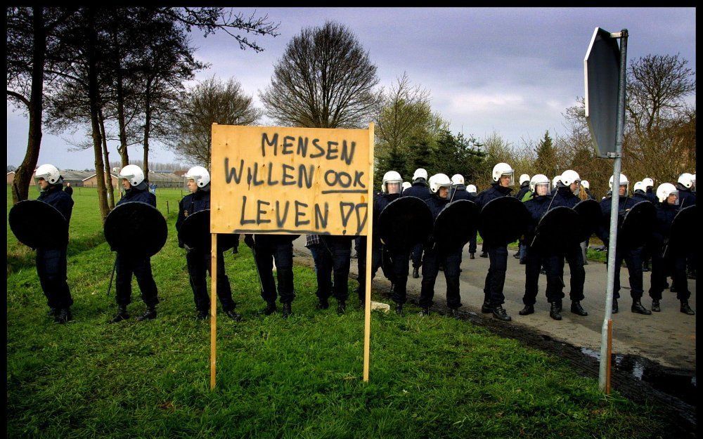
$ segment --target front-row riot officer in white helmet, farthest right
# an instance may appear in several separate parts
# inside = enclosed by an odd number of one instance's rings
[[[662,300],[662,291],[666,287],[667,268],[671,268],[673,278],[677,285],[676,299],[681,302],[681,312],[694,315],[695,311],[688,304],[691,292],[688,290],[686,279],[686,255],[668,251],[664,255],[664,247],[669,240],[671,223],[678,214],[678,190],[671,183],[662,183],[657,188],[657,225],[654,228],[652,244],[652,277],[650,282],[650,297],[652,298],[652,311],[662,310],[659,301]]]

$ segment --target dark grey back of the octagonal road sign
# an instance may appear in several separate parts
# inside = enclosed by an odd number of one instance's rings
[[[620,48],[610,32],[596,27],[583,60],[586,74],[586,121],[598,157],[615,153]],[[610,153],[610,154],[609,154]]]

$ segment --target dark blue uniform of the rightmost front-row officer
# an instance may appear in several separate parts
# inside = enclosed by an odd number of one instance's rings
[[[650,282],[650,297],[652,300],[662,300],[662,291],[666,288],[666,273],[671,273],[673,284],[676,285],[676,299],[688,301],[691,292],[688,290],[686,278],[686,255],[674,254],[668,251],[664,258],[664,248],[671,235],[671,223],[676,218],[679,207],[664,200],[657,203],[657,223],[652,237],[652,277]]]

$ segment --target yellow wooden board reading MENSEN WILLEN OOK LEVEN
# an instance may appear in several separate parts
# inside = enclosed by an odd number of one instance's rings
[[[211,232],[366,235],[369,137],[213,125]]]

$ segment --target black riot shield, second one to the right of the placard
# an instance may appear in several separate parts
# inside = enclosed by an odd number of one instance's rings
[[[434,244],[440,251],[461,249],[469,242],[479,222],[479,208],[468,199],[451,202],[434,220]]]

